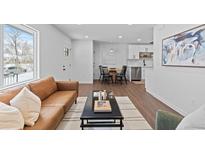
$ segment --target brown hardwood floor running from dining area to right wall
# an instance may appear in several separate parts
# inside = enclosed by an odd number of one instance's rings
[[[115,96],[128,96],[152,128],[155,125],[155,114],[158,109],[177,113],[147,93],[143,84],[131,82],[127,85],[101,84],[99,81],[94,81],[94,84],[80,84],[79,96],[87,96],[92,90],[112,90]]]

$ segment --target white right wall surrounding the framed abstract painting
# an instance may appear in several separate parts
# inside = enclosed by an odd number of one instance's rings
[[[145,77],[146,90],[183,115],[205,104],[205,68],[162,66],[162,39],[195,26],[155,26],[154,67]]]

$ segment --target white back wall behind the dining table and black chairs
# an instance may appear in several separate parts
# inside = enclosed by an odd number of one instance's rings
[[[115,52],[109,55],[110,49]],[[99,65],[122,67],[127,65],[128,45],[120,43],[94,42],[94,79],[99,79]]]

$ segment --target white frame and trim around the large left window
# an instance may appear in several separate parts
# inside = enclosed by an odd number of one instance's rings
[[[4,77],[3,77],[3,66],[4,66],[4,62],[3,62],[3,57],[4,57],[4,26],[5,25],[10,25],[14,28],[18,28],[22,31],[28,32],[33,34],[33,66],[34,66],[34,73],[33,73],[33,79],[29,79],[26,81],[22,81],[22,82],[18,82],[18,83],[14,83],[12,85],[8,85],[8,86],[3,86],[0,88],[0,90],[4,90],[4,89],[8,89],[11,87],[16,87],[19,85],[24,85],[26,83],[29,83],[31,81],[35,81],[37,79],[39,79],[40,77],[40,55],[39,55],[39,31],[31,26],[25,25],[25,24],[1,24],[0,25],[0,85],[4,84]]]

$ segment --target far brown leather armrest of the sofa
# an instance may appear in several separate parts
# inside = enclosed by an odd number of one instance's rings
[[[56,84],[59,91],[76,90],[78,94],[79,91],[78,81],[56,81]]]

